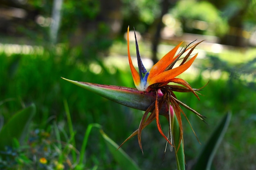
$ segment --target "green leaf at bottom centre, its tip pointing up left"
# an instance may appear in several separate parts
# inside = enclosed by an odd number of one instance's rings
[[[105,139],[108,149],[112,153],[115,161],[119,164],[122,170],[140,170],[137,164],[122,150],[119,148],[117,143],[112,141],[104,132],[103,130],[100,131],[102,137]],[[119,149],[118,149],[119,148]]]

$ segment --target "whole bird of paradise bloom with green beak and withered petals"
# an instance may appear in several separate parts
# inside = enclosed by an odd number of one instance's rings
[[[182,45],[183,42],[180,42],[176,47],[169,51],[161,60],[159,60],[148,72],[144,67],[141,57],[139,54],[139,46],[137,43],[137,38],[135,34],[135,45],[137,52],[137,62],[139,67],[139,72],[135,69],[132,64],[130,49],[129,49],[129,27],[127,30],[127,41],[128,41],[128,60],[130,69],[132,72],[132,78],[135,83],[135,88],[121,87],[114,85],[100,85],[95,83],[79,82],[72,81],[66,78],[66,81],[74,83],[78,86],[81,86],[85,89],[88,89],[96,94],[99,94],[105,98],[108,98],[112,101],[132,107],[139,110],[144,110],[145,113],[141,118],[139,128],[135,130],[120,146],[119,148],[130,138],[137,135],[139,147],[143,153],[141,145],[141,131],[150,124],[153,120],[156,119],[157,129],[159,133],[164,137],[164,139],[173,147],[172,142],[172,130],[171,130],[171,121],[175,114],[177,117],[178,126],[180,128],[179,132],[179,142],[175,147],[176,150],[180,148],[180,144],[183,143],[183,128],[182,128],[182,117],[183,114],[185,119],[189,122],[186,114],[180,107],[183,106],[186,109],[195,113],[201,120],[205,120],[205,116],[193,110],[191,107],[182,103],[177,99],[174,92],[192,92],[199,100],[198,91],[201,89],[194,89],[189,85],[188,82],[181,78],[176,78],[182,74],[186,69],[188,69],[198,54],[191,54],[195,47],[201,42],[195,43],[191,47],[187,45],[183,47],[178,54],[177,50]],[[186,51],[188,53],[182,57]],[[189,57],[192,58],[189,59]],[[182,60],[178,67],[174,67],[177,61]],[[175,85],[170,85],[169,83],[175,83]],[[148,116],[148,114],[150,115]],[[168,135],[166,136],[162,131],[159,115],[163,115],[169,122]],[[191,126],[191,124],[189,123]],[[192,127],[191,127],[192,128]],[[192,128],[193,130],[193,128]],[[193,133],[195,134],[194,130]],[[196,136],[196,134],[195,134]]]

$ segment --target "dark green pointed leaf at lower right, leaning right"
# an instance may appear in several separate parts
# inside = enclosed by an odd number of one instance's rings
[[[200,153],[197,162],[195,163],[193,170],[210,170],[211,163],[214,155],[222,141],[227,127],[231,119],[231,113],[227,113],[220,124],[216,127],[214,132],[211,134],[209,141],[204,146],[204,149]]]

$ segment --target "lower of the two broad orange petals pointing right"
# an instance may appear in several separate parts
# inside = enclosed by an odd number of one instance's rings
[[[148,86],[153,85],[155,83],[166,83],[166,84],[169,83],[171,79],[175,78],[176,76],[186,71],[186,69],[188,69],[192,65],[193,61],[197,56],[198,54],[195,54],[195,56],[193,56],[189,61],[187,61],[183,65],[180,65],[179,67],[170,69],[166,72],[162,72],[159,75],[153,77],[152,79],[148,78]]]

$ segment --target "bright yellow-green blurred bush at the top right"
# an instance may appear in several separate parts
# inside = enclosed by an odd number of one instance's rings
[[[227,21],[207,1],[181,0],[171,14],[181,20],[184,32],[223,36],[228,31]]]

